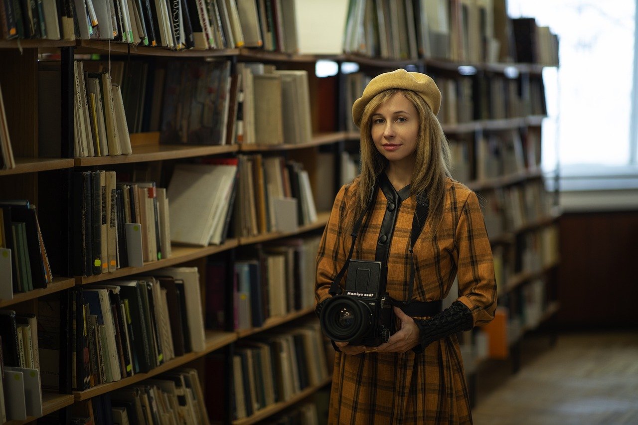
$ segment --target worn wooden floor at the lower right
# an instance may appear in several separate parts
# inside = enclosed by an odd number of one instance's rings
[[[474,423],[638,424],[638,330],[528,336],[523,361],[479,370]]]

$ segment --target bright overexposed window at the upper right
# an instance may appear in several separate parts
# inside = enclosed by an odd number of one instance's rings
[[[558,167],[563,190],[638,188],[635,9],[636,0],[508,0],[510,17],[535,17],[559,36],[560,67],[543,73],[542,162]]]

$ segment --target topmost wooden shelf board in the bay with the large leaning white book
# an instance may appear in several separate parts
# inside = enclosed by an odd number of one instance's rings
[[[224,57],[236,56],[238,48],[212,48],[202,50],[189,48],[186,50],[170,50],[166,47],[148,47],[129,45],[117,41],[78,40],[75,54],[131,54],[144,56],[169,56],[169,57]]]

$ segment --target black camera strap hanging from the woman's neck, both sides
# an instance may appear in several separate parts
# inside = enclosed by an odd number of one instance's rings
[[[341,288],[339,287],[339,283],[341,283],[341,280],[343,279],[343,275],[346,273],[346,270],[348,269],[348,263],[352,259],[352,254],[355,249],[355,241],[357,241],[357,235],[359,234],[359,230],[363,223],[364,217],[372,209],[378,189],[379,189],[379,183],[377,182],[373,190],[371,190],[370,198],[367,202],[366,209],[364,209],[364,211],[361,213],[359,218],[357,218],[357,221],[355,221],[355,225],[352,228],[352,233],[350,234],[350,236],[352,237],[352,244],[350,244],[350,252],[348,253],[348,258],[346,258],[346,261],[343,264],[343,267],[341,267],[341,270],[339,271],[337,276],[335,276],[334,281],[332,281],[332,285],[330,285],[330,290],[328,291],[329,294],[332,295],[333,297],[341,293]],[[414,278],[416,274],[413,247],[416,244],[417,239],[419,239],[419,235],[421,234],[423,228],[426,225],[427,214],[429,213],[429,200],[427,199],[426,195],[423,194],[423,195],[417,196],[416,202],[417,202],[417,206],[415,208],[414,216],[412,218],[412,230],[410,231],[410,246],[408,248],[408,251],[410,251],[410,280],[408,281],[408,288],[409,288],[408,298],[406,301],[398,301],[397,307],[403,307],[412,301],[412,294],[414,291]]]

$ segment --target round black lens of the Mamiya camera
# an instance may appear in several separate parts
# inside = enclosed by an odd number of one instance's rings
[[[338,295],[323,306],[320,317],[326,336],[333,341],[350,342],[361,338],[372,324],[367,304],[350,296]]]

